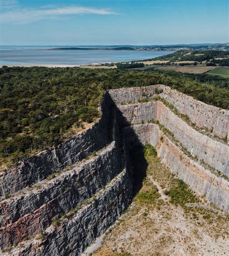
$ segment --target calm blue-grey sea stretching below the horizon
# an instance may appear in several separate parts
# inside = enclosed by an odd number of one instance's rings
[[[0,64],[71,64],[126,62],[151,59],[173,51],[149,50],[50,50],[66,46],[0,46]],[[114,46],[71,46],[80,48],[114,48]]]

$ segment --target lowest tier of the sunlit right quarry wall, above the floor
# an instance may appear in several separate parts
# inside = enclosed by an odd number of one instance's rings
[[[129,147],[139,143],[149,143],[156,147],[158,157],[172,173],[184,180],[193,191],[201,196],[205,195],[209,203],[212,202],[224,211],[229,211],[228,181],[215,176],[199,163],[188,158],[163,134],[158,125],[143,124],[125,128],[125,138]]]

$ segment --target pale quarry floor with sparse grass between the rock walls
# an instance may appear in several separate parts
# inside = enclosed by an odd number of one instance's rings
[[[157,157],[146,156],[146,160],[147,176],[141,190],[128,211],[103,236],[101,248],[93,256],[227,255],[228,216],[172,204],[166,191],[176,189],[175,177]],[[196,198],[196,204],[206,205],[203,198],[187,192],[189,199]]]

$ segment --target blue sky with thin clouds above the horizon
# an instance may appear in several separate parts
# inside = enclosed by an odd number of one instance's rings
[[[1,45],[229,42],[228,0],[0,0]]]

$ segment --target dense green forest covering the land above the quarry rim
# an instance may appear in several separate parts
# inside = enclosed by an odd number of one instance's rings
[[[194,98],[229,108],[227,79],[163,70],[45,67],[0,68],[0,162],[62,142],[83,122],[99,117],[108,89],[162,83]]]

